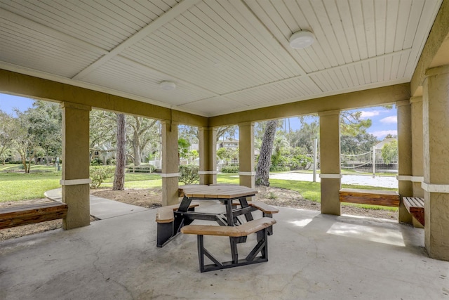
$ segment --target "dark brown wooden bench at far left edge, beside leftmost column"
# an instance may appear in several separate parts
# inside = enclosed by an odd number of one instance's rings
[[[56,201],[0,209],[0,229],[64,219],[67,209],[67,204]]]

